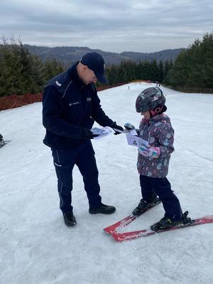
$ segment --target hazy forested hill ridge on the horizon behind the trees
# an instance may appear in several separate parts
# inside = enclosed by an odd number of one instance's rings
[[[25,45],[25,47],[31,52],[38,55],[41,60],[47,58],[57,59],[58,61],[64,63],[66,66],[71,65],[73,62],[80,60],[82,55],[89,52],[98,52],[100,53],[106,62],[106,65],[118,65],[121,61],[124,60],[133,60],[133,61],[143,61],[143,60],[157,60],[163,62],[166,60],[175,60],[178,54],[183,48],[178,49],[168,49],[158,51],[156,53],[133,53],[131,51],[124,53],[109,53],[99,49],[91,49],[87,47],[78,47],[78,46],[59,46],[55,48],[49,48],[46,46],[36,46],[36,45]]]

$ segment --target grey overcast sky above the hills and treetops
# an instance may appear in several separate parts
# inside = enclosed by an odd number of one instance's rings
[[[121,53],[187,47],[213,31],[212,0],[1,0],[0,33]]]

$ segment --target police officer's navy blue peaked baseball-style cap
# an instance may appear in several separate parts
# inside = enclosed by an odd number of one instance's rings
[[[83,65],[87,65],[97,77],[97,80],[102,83],[107,83],[107,78],[104,76],[104,58],[99,53],[87,53],[85,54],[80,62]]]

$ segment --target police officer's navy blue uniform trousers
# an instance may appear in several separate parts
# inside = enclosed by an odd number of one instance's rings
[[[80,170],[84,181],[84,190],[87,192],[89,208],[95,209],[101,205],[99,195],[99,172],[94,157],[91,141],[66,150],[51,149],[55,172],[58,178],[58,194],[62,212],[72,212],[72,169],[74,165]]]

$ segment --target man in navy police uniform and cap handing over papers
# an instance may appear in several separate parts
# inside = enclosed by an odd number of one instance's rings
[[[94,85],[97,80],[107,82],[104,58],[99,53],[87,53],[69,70],[50,80],[43,93],[43,126],[46,129],[43,142],[52,151],[60,209],[67,226],[76,224],[71,195],[74,165],[82,174],[89,213],[115,212],[115,207],[103,204],[99,195],[98,170],[91,143],[94,134],[90,129],[94,121],[115,131],[123,128],[102,110]]]

